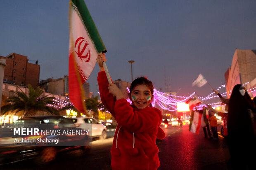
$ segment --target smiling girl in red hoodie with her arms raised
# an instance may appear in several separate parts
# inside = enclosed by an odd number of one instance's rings
[[[164,139],[165,133],[160,128],[161,111],[151,105],[152,82],[145,77],[132,82],[128,96],[133,104],[130,105],[119,88],[108,83],[103,61],[105,55],[98,54],[100,97],[118,123],[110,151],[112,169],[156,170],[160,165],[156,138]]]

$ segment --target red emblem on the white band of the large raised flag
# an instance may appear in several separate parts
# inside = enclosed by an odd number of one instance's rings
[[[78,44],[78,42],[79,42],[79,44]],[[82,49],[81,49],[81,46],[82,46]],[[76,54],[81,59],[81,61],[83,61],[82,58],[85,59],[84,62],[90,61],[91,54],[90,54],[90,49],[88,47],[89,47],[89,44],[88,44],[87,40],[85,40],[84,37],[79,37],[76,40],[76,43],[75,43]],[[87,53],[85,52],[86,48],[87,48]],[[83,54],[85,54],[85,55],[83,55]]]

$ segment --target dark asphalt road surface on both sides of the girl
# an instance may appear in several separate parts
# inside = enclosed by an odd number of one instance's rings
[[[229,152],[226,140],[219,135],[219,140],[204,138],[202,129],[199,135],[189,131],[188,126],[164,129],[166,138],[157,141],[159,159],[158,170],[231,170],[228,167]],[[95,140],[92,148],[83,155],[83,151],[70,151],[61,154],[48,165],[36,166],[32,160],[20,161],[0,167],[2,170],[57,170],[86,169],[111,170],[110,148],[114,131],[108,132],[106,140]]]

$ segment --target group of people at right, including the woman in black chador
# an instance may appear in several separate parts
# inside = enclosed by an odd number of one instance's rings
[[[214,115],[218,114],[222,118],[226,116],[227,121],[224,126],[227,126],[226,138],[230,152],[229,163],[237,167],[251,168],[256,160],[256,98],[252,100],[241,84],[234,86],[229,99],[223,98],[218,91],[214,91],[214,93],[226,105],[226,112],[218,112],[210,105],[198,111],[202,114],[204,120],[202,122],[204,137],[209,136],[213,140],[218,140],[218,124]],[[208,119],[206,117],[207,109],[209,111]]]

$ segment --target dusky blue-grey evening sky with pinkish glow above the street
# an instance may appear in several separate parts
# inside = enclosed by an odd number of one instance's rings
[[[161,91],[199,97],[201,73],[218,88],[235,49],[256,49],[255,0],[85,0],[108,50],[113,80],[147,76]],[[0,56],[38,60],[40,79],[68,75],[69,0],[8,0],[0,6]],[[88,83],[97,95],[98,65]],[[171,88],[170,88],[171,87]],[[222,88],[221,93],[225,92]]]

